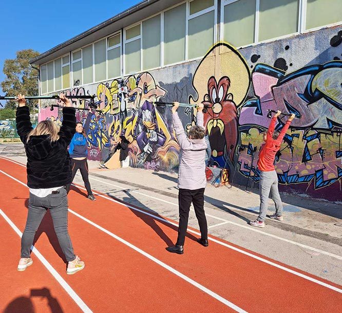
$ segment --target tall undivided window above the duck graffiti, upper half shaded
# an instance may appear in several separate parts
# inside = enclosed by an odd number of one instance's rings
[[[160,15],[142,22],[143,70],[160,66]]]

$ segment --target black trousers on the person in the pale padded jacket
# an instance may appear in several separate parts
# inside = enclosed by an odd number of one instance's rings
[[[179,189],[178,204],[179,204],[179,227],[178,238],[176,245],[183,246],[185,241],[185,234],[187,222],[189,219],[189,211],[191,203],[194,204],[196,218],[201,231],[201,238],[208,238],[208,226],[206,223],[204,213],[204,188],[190,190]]]

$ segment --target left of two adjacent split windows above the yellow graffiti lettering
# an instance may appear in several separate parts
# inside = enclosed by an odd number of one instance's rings
[[[107,44],[107,79],[121,75],[121,34],[108,38]]]

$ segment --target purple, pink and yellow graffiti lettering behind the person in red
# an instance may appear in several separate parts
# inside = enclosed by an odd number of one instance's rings
[[[281,157],[276,160],[280,183],[313,182],[317,189],[342,177],[342,89],[338,86],[341,77],[339,61],[308,66],[289,75],[264,64],[254,68],[252,83],[256,97],[244,103],[239,115],[241,144],[259,149],[260,132],[270,123],[268,109],[300,116],[292,122],[280,149]],[[281,128],[283,123],[279,120],[276,127]],[[243,173],[251,169],[247,153],[238,160]]]

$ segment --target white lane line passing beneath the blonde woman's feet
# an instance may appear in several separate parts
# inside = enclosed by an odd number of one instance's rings
[[[5,219],[5,221],[13,228],[13,230],[18,234],[20,238],[22,238],[23,233],[15,226],[15,224],[9,219],[9,217],[5,214],[5,212],[0,209],[0,215]],[[43,265],[47,268],[47,270],[51,273],[51,275],[55,278],[56,281],[62,286],[62,288],[68,293],[68,295],[72,298],[73,301],[81,308],[83,312],[91,313],[92,310],[84,303],[84,301],[79,297],[78,294],[69,286],[69,284],[62,278],[62,276],[56,271],[52,265],[43,257],[42,253],[39,252],[34,246],[31,247],[32,253],[36,255],[36,257],[43,263]]]

